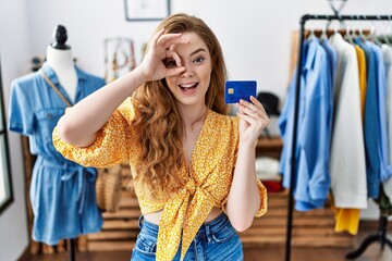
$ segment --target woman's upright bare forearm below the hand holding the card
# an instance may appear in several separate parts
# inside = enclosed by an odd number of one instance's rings
[[[256,149],[252,144],[240,144],[232,187],[228,199],[228,215],[237,231],[252,225],[260,206],[260,196],[256,183]]]

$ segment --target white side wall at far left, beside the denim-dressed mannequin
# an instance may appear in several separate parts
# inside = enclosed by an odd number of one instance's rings
[[[8,112],[11,80],[28,72],[30,59],[24,0],[0,0],[1,73]],[[5,113],[8,114],[8,113]],[[16,260],[28,245],[21,138],[10,133],[14,202],[0,215],[0,260]]]

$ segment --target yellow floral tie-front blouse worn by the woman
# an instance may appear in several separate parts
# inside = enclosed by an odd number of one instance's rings
[[[105,167],[127,161],[132,175],[140,145],[132,121],[137,116],[131,98],[125,100],[100,129],[96,141],[87,148],[77,148],[63,141],[53,130],[53,142],[66,159],[84,166]],[[185,257],[197,231],[213,207],[224,209],[231,187],[238,146],[238,119],[208,111],[192,154],[189,172],[186,163],[180,175],[185,186],[175,195],[158,191],[152,198],[142,184],[134,184],[143,214],[163,210],[159,223],[157,260],[172,260],[183,239],[181,259]],[[256,177],[255,177],[256,178]],[[256,216],[267,211],[267,190],[257,181],[260,207]]]

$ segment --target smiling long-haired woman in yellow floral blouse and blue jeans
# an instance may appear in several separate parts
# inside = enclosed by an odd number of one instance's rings
[[[267,211],[255,145],[262,105],[225,115],[223,54],[199,18],[164,20],[134,71],[69,109],[57,149],[83,165],[130,162],[142,216],[132,260],[243,260],[235,231]]]

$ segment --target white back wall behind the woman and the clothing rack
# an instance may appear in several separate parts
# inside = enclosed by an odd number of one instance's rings
[[[232,78],[255,78],[259,89],[283,98],[289,82],[290,34],[299,28],[305,13],[332,14],[327,0],[172,0],[172,12],[187,12],[204,18],[221,41]],[[157,22],[126,22],[124,1],[69,0],[28,1],[33,54],[45,55],[57,24],[69,32],[82,67],[103,75],[103,39],[126,36],[134,39],[140,57]],[[284,8],[282,8],[284,7]],[[347,1],[344,14],[389,14],[392,1]],[[324,24],[324,22],[323,22]],[[368,23],[369,24],[369,23]]]

